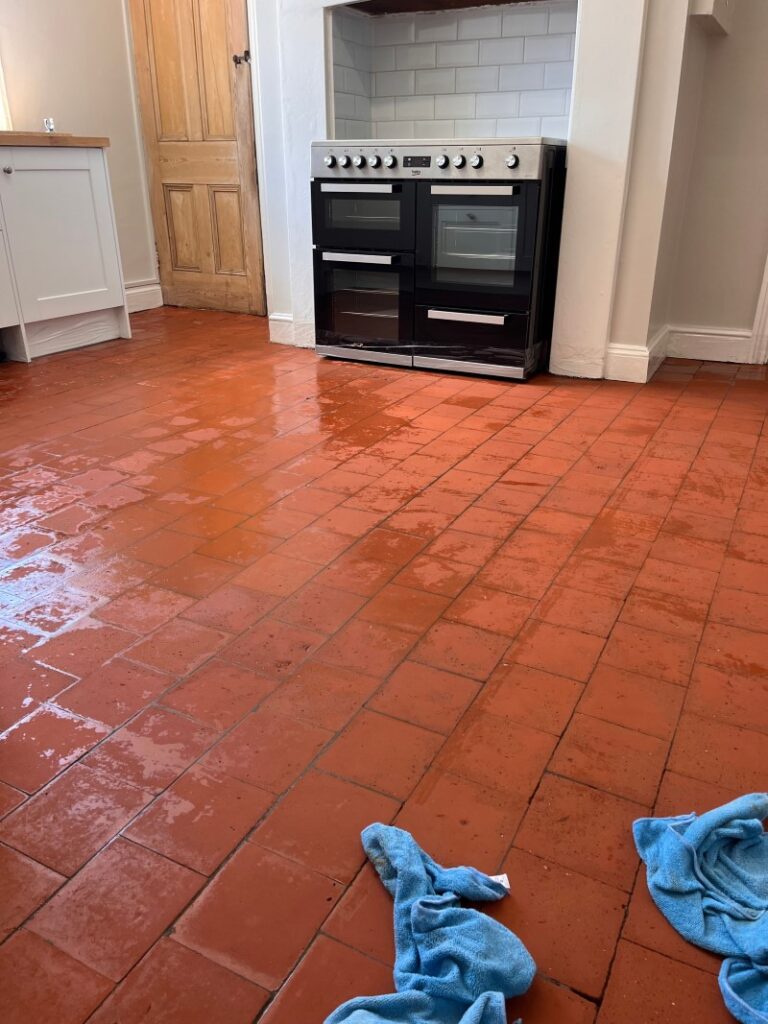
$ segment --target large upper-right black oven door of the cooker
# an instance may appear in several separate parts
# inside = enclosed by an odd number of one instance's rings
[[[539,182],[418,187],[417,305],[527,313]]]

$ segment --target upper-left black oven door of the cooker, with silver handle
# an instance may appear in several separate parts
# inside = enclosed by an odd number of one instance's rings
[[[416,182],[312,181],[312,241],[321,249],[412,251]]]

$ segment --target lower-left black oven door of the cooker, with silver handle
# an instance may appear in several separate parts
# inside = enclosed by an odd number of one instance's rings
[[[412,366],[413,255],[315,250],[314,318],[321,354]]]

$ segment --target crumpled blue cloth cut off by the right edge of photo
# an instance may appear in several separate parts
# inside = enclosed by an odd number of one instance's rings
[[[633,825],[653,902],[689,942],[727,956],[720,989],[743,1024],[768,1024],[768,794]]]

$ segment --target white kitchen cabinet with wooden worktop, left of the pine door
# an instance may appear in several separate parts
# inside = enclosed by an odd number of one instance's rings
[[[130,337],[105,139],[0,133],[0,327],[11,358]],[[5,276],[4,276],[5,273]],[[12,306],[15,306],[13,313]],[[13,329],[9,325],[16,324]]]

